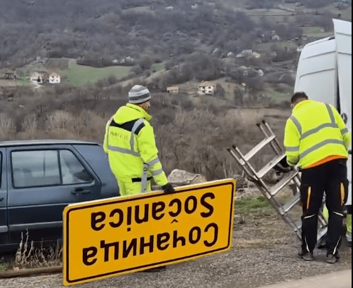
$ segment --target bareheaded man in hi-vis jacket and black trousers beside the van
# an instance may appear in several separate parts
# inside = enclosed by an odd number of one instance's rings
[[[343,205],[347,201],[347,158],[351,142],[345,122],[332,105],[309,100],[305,93],[291,99],[293,114],[286,122],[284,146],[290,166],[302,169],[302,251],[306,261],[314,259],[319,209],[326,192],[329,211],[328,263],[340,257]]]

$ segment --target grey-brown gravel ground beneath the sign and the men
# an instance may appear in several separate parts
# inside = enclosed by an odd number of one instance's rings
[[[232,250],[226,253],[168,266],[163,273],[133,273],[75,287],[257,288],[352,269],[352,249],[345,242],[338,263],[326,263],[326,252],[319,249],[315,261],[305,262],[297,256],[298,238],[276,214],[238,220]],[[0,279],[0,288],[54,287],[62,287],[62,274]]]

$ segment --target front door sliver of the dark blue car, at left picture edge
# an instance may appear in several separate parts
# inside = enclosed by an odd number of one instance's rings
[[[5,153],[5,148],[0,148],[0,245],[6,244],[8,241],[6,204],[7,204],[6,153]]]

